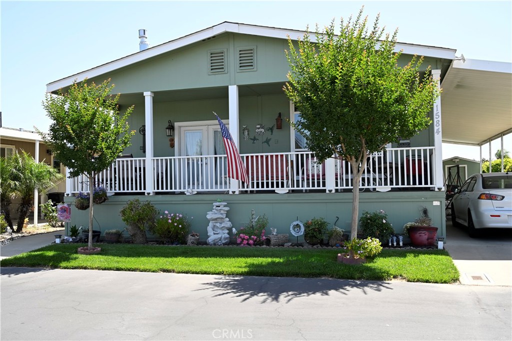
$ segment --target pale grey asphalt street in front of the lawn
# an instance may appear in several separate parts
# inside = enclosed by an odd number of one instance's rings
[[[2,340],[510,340],[510,287],[2,268]]]

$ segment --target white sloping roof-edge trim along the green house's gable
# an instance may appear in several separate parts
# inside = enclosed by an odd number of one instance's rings
[[[108,62],[103,65],[99,65],[93,67],[93,69],[80,72],[78,74],[62,78],[60,80],[51,82],[47,84],[46,90],[47,92],[54,92],[62,87],[69,86],[73,84],[73,81],[76,79],[78,82],[84,80],[85,78],[97,77],[99,75],[112,72],[114,70],[120,69],[121,67],[128,66],[142,60],[152,58],[158,56],[160,54],[173,51],[189,44],[201,41],[206,38],[210,38],[212,36],[225,33],[242,33],[242,34],[250,34],[257,35],[263,37],[271,37],[271,38],[280,38],[287,39],[290,36],[291,39],[296,40],[298,37],[303,37],[306,33],[305,31],[296,31],[296,30],[287,30],[273,27],[265,27],[265,26],[255,26],[255,25],[246,25],[246,24],[237,24],[234,22],[222,22],[222,24],[201,30],[196,33],[189,34],[187,36],[171,40],[160,44],[158,46],[149,48],[144,51],[140,51],[134,53],[132,55]],[[312,37],[312,41],[314,41],[314,33],[310,33]],[[445,58],[445,59],[455,59],[456,50],[446,49],[446,48],[438,48],[438,47],[427,47],[415,44],[407,44],[407,43],[397,43],[395,47],[395,51],[403,50],[404,54],[408,55],[419,55],[425,57],[434,57],[434,58]]]

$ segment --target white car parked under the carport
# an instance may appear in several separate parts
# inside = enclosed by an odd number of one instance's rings
[[[466,226],[471,237],[485,228],[512,229],[512,174],[468,177],[452,199],[452,223]]]

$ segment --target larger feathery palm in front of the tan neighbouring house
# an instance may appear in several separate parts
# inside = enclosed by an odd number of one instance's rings
[[[34,191],[45,189],[62,175],[50,165],[38,163],[32,155],[21,151],[9,157],[12,168],[11,181],[13,192],[20,198],[19,218],[16,233],[23,231],[23,223],[34,209]]]

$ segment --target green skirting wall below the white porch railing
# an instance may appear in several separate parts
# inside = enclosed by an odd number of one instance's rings
[[[439,237],[446,237],[444,214],[444,192],[442,191],[397,191],[397,192],[362,192],[359,193],[359,216],[363,211],[384,210],[396,233],[402,233],[403,224],[420,216],[420,210],[426,208],[436,226]],[[161,212],[186,214],[191,221],[191,231],[200,234],[200,241],[207,238],[208,219],[206,213],[211,211],[211,204],[218,199],[229,204],[227,217],[233,228],[239,230],[249,222],[251,210],[256,215],[265,214],[270,228],[277,229],[278,234],[289,234],[290,224],[295,220],[306,222],[314,217],[325,218],[331,229],[334,223],[338,228],[350,232],[352,217],[352,192],[336,193],[251,193],[251,194],[196,194],[196,195],[113,195],[101,205],[94,206],[94,230],[119,229],[125,225],[119,211],[130,199],[151,201]],[[66,203],[72,203],[74,197],[65,197]],[[339,219],[338,219],[339,218]],[[89,211],[79,211],[72,205],[71,223],[68,225],[89,224]],[[150,233],[147,233],[151,239]],[[230,231],[230,235],[232,232]],[[327,236],[326,236],[327,238]],[[299,237],[299,241],[303,241]],[[233,243],[234,239],[232,240]]]

